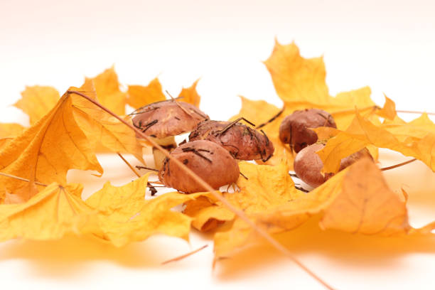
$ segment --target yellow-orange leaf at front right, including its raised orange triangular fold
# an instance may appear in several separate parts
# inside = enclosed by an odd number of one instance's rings
[[[248,217],[259,227],[276,234],[292,230],[316,214],[321,214],[319,226],[322,229],[387,236],[419,232],[408,224],[404,200],[388,188],[381,171],[369,159],[340,171],[306,195],[248,214]],[[215,257],[227,257],[235,249],[250,245],[256,237],[252,228],[237,218],[230,229],[216,233]]]

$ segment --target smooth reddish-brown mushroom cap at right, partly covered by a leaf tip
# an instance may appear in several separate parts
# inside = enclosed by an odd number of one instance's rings
[[[306,146],[296,154],[296,158],[294,159],[294,172],[296,172],[296,175],[301,178],[302,181],[313,188],[320,186],[334,176],[333,173],[325,173],[324,175],[321,173],[323,162],[316,152],[323,149],[323,147],[325,147],[325,144],[321,143]],[[342,171],[344,168],[363,158],[373,159],[366,148],[341,159],[340,169],[338,169],[338,171]]]

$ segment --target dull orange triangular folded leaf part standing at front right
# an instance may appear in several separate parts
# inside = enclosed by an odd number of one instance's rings
[[[324,211],[323,229],[365,235],[398,235],[411,229],[404,200],[388,188],[375,163],[359,161],[343,175],[337,197]]]

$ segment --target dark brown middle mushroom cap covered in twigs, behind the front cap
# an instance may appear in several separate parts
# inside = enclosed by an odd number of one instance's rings
[[[189,135],[189,140],[209,140],[227,149],[235,159],[267,161],[274,154],[274,144],[266,134],[242,123],[207,120]]]

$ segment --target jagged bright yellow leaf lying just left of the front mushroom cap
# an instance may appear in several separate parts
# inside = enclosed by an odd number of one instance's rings
[[[95,235],[122,247],[155,234],[188,239],[191,218],[171,210],[194,196],[165,193],[145,200],[149,173],[121,187],[106,183],[85,202],[99,211],[99,232]]]

